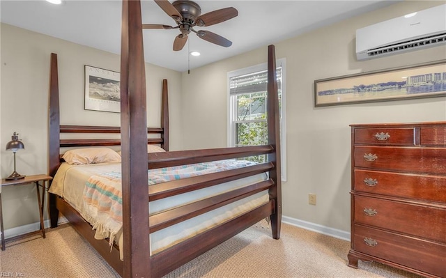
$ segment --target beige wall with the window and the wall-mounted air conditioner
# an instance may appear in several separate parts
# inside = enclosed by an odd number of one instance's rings
[[[351,123],[445,121],[446,98],[314,107],[314,80],[446,59],[433,47],[370,61],[355,59],[355,30],[445,1],[404,1],[275,43],[286,59],[287,172],[284,215],[350,231]],[[385,31],[385,30],[383,30]],[[183,73],[185,148],[226,146],[229,71],[266,63],[267,47]],[[206,105],[204,105],[206,104]],[[310,206],[309,193],[317,195]]]

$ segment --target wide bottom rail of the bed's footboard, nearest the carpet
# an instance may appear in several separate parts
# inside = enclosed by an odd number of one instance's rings
[[[274,212],[275,201],[271,200],[259,208],[249,211],[239,217],[229,220],[213,229],[199,233],[193,238],[170,247],[151,256],[153,277],[162,277],[172,270],[197,258],[220,243],[247,229]],[[199,243],[198,243],[199,242]],[[174,258],[174,259],[173,259]]]

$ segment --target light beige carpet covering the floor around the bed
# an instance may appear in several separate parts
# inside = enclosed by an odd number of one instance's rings
[[[349,268],[349,249],[350,242],[288,224],[280,240],[273,240],[266,222],[259,222],[164,278],[420,277],[380,263],[360,261],[359,269]],[[25,278],[119,277],[69,225],[49,230],[46,239],[33,235],[8,242],[0,252],[0,271]]]

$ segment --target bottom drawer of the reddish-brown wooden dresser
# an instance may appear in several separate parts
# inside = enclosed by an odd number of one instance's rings
[[[355,225],[354,231],[353,249],[357,252],[446,277],[446,245],[360,225]]]

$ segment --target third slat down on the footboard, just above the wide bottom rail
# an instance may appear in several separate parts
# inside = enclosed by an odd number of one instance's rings
[[[160,229],[167,228],[179,222],[191,219],[192,217],[202,215],[203,213],[208,213],[210,210],[221,208],[229,203],[262,192],[263,190],[267,190],[272,185],[274,185],[272,180],[264,180],[260,183],[254,183],[253,185],[249,185],[247,187],[242,187],[237,190],[232,190],[224,194],[190,203],[185,206],[181,206],[180,208],[167,210],[164,213],[157,213],[156,215],[149,217],[149,231],[150,233],[160,231]]]

